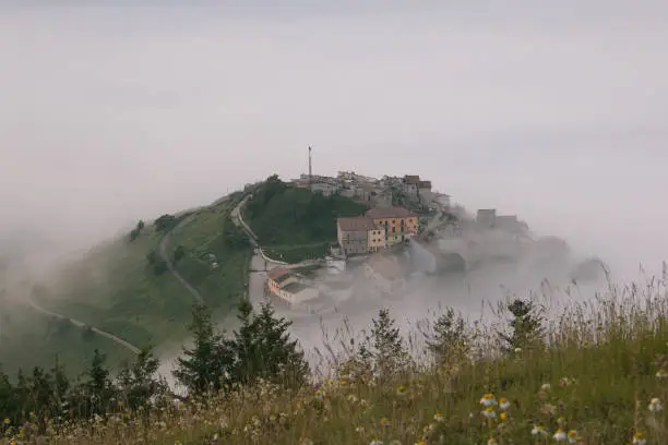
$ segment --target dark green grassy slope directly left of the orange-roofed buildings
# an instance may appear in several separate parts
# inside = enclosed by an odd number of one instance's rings
[[[336,218],[358,216],[367,206],[348,197],[311,193],[270,177],[243,208],[243,219],[270,255],[287,262],[322,256],[336,241]]]

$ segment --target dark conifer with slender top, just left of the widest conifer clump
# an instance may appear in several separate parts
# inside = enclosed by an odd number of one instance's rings
[[[223,335],[215,332],[211,311],[205,305],[196,304],[193,308],[188,329],[193,336],[194,346],[192,349],[183,347],[183,357],[178,358],[174,376],[193,396],[220,389],[232,358]]]

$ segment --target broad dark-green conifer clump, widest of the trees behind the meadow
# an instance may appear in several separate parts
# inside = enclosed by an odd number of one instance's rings
[[[283,384],[303,383],[309,375],[309,365],[298,341],[290,339],[287,329],[293,322],[276,317],[269,303],[252,316],[248,300],[239,304],[241,327],[234,333],[229,347],[235,353],[231,377],[243,384],[258,378]]]

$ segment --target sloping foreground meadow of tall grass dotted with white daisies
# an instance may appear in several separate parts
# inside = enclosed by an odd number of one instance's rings
[[[562,309],[542,347],[502,354],[500,325],[473,324],[475,348],[441,366],[417,360],[384,380],[339,373],[299,390],[259,383],[154,418],[71,425],[49,443],[666,444],[665,285],[611,287]]]

